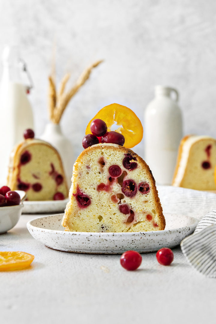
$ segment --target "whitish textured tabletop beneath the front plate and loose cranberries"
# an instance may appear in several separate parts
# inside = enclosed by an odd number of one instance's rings
[[[179,247],[171,266],[142,254],[136,271],[119,255],[47,248],[29,234],[22,215],[0,235],[0,250],[35,256],[31,268],[0,272],[0,323],[215,323],[216,280],[196,272]]]

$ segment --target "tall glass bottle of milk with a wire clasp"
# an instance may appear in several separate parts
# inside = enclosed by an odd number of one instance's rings
[[[6,46],[3,55],[3,73],[0,83],[0,184],[6,184],[9,155],[14,145],[23,140],[23,131],[34,128],[28,88],[20,77],[20,66],[26,66],[16,46]]]

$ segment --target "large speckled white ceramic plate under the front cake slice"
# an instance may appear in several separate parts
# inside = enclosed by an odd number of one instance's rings
[[[63,214],[33,219],[27,223],[29,233],[51,249],[77,252],[121,254],[127,250],[140,253],[173,248],[193,233],[198,220],[176,214],[165,214],[164,231],[133,233],[66,232],[61,225]]]

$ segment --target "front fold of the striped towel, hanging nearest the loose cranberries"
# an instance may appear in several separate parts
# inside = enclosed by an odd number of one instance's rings
[[[194,234],[183,239],[181,250],[196,270],[216,278],[216,209],[199,221]]]

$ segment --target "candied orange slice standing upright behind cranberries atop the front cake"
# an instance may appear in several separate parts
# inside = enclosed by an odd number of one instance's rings
[[[143,136],[142,123],[130,108],[119,105],[118,103],[113,103],[102,108],[89,121],[85,130],[86,135],[91,134],[90,125],[93,119],[96,118],[106,122],[108,132],[112,130],[124,135],[125,147],[131,148],[141,142]],[[112,127],[113,125],[115,125],[114,128]]]

